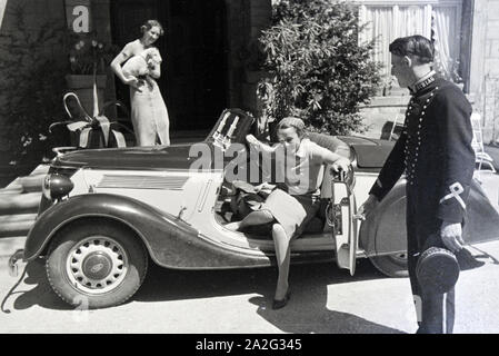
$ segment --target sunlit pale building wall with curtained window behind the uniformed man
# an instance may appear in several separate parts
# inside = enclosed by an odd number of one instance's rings
[[[362,108],[368,135],[377,137],[389,121],[401,122],[407,90],[391,81],[389,43],[397,37],[422,34],[436,44],[438,69],[460,85],[482,116],[483,141],[499,139],[498,0],[359,0],[359,38],[375,40],[373,59],[383,65],[383,87]]]

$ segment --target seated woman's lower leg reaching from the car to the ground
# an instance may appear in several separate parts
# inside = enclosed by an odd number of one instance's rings
[[[277,265],[279,267],[275,299],[282,300],[285,299],[289,287],[288,277],[291,259],[291,248],[289,246],[290,238],[280,224],[275,224],[272,226],[272,238],[273,244],[276,245]]]

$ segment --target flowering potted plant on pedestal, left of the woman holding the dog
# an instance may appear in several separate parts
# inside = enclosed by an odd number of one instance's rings
[[[96,115],[103,106],[106,71],[117,52],[116,46],[101,41],[94,33],[71,33],[70,41],[71,71],[66,76],[68,89],[80,98],[88,112]]]

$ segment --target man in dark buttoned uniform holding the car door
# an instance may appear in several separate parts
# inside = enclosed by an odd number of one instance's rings
[[[471,106],[457,86],[432,71],[433,46],[427,38],[396,39],[390,52],[391,73],[412,97],[402,135],[358,214],[369,216],[406,174],[408,268],[418,333],[452,333],[453,285],[437,291],[418,280],[416,267],[430,247],[455,254],[462,249],[461,225],[475,170]]]

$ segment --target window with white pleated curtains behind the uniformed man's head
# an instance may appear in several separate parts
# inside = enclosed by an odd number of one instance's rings
[[[381,73],[389,81],[389,44],[398,37],[422,34],[433,40],[437,69],[457,72],[460,55],[461,0],[360,1],[359,41],[375,40],[373,60],[382,63]]]

